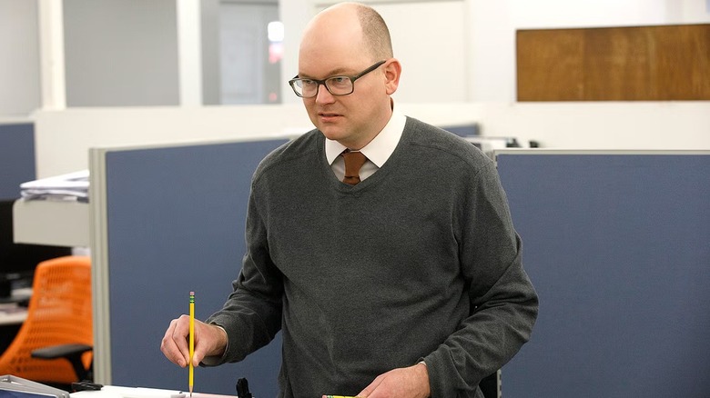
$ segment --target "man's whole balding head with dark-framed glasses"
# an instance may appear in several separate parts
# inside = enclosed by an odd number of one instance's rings
[[[299,75],[291,86],[297,80],[310,85],[303,104],[327,139],[360,149],[390,120],[391,95],[400,75],[382,17],[367,5],[340,3],[321,11],[306,26]],[[298,88],[294,91],[299,95]]]

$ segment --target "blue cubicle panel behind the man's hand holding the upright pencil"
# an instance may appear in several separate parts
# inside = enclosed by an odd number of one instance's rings
[[[190,291],[201,320],[227,299],[245,253],[251,175],[285,142],[103,153],[105,174],[92,169],[92,184],[106,185],[106,248],[97,252],[106,251],[110,353],[96,355],[110,357],[110,383],[188,389],[187,369],[165,359],[160,340],[170,320],[188,313]],[[233,395],[247,377],[256,396],[276,396],[279,366],[280,333],[242,363],[196,369],[195,391]]]

